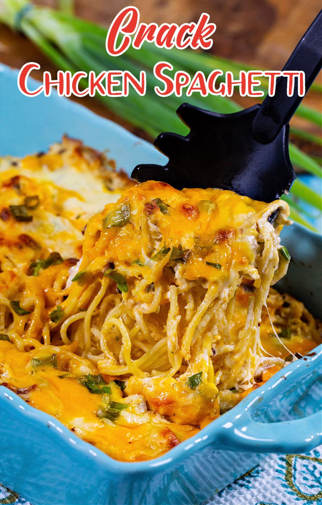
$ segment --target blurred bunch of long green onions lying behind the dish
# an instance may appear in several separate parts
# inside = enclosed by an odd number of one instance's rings
[[[213,69],[220,69],[225,74],[230,70],[234,78],[241,70],[252,70],[253,67],[243,63],[230,61],[217,56],[199,53],[189,49],[180,51],[177,48],[163,49],[154,44],[144,42],[140,49],[130,46],[126,53],[119,57],[112,57],[105,51],[107,29],[95,23],[82,20],[72,14],[73,2],[61,0],[60,10],[34,6],[27,0],[2,0],[0,4],[0,21],[13,30],[22,32],[32,40],[40,50],[61,70],[69,70],[72,74],[78,70],[96,75],[109,70],[128,70],[136,77],[141,70],[146,72],[146,94],[138,95],[134,89],[129,90],[127,97],[101,96],[96,93],[95,98],[121,118],[135,127],[142,129],[150,137],[156,137],[162,131],[173,131],[182,135],[188,133],[188,128],[178,119],[176,109],[182,102],[188,100],[190,104],[203,109],[214,110],[222,114],[231,114],[241,110],[234,99],[222,96],[185,96],[171,95],[160,97],[154,92],[156,85],[153,67],[159,61],[167,61],[173,66],[172,74],[184,70],[190,74],[198,70],[206,76]],[[265,94],[268,89],[268,79],[260,78],[258,89]],[[82,86],[88,85],[82,79]],[[313,85],[313,91],[321,93],[321,86]],[[304,118],[313,125],[321,124],[320,114],[301,104],[296,115]],[[321,146],[321,139],[302,128],[292,128],[292,133],[306,141]],[[309,174],[322,177],[320,157],[313,158],[303,153],[294,143],[289,144],[290,159],[293,165]],[[311,214],[305,209],[307,204],[320,214],[322,209],[321,196],[298,179],[294,182],[291,193],[283,196],[291,209],[291,219],[315,230],[307,218]],[[303,207],[304,204],[304,207]],[[316,216],[315,216],[316,217]],[[316,230],[315,230],[316,231]]]

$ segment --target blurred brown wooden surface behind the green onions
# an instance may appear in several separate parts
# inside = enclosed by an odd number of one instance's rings
[[[1,0],[0,0],[1,2]],[[57,7],[57,0],[37,0],[49,7]],[[181,24],[196,21],[202,12],[210,15],[217,24],[213,35],[213,54],[243,61],[264,69],[281,69],[297,41],[320,10],[320,0],[76,0],[76,14],[80,17],[107,26],[114,16],[125,6],[139,8],[143,22],[175,22]],[[44,57],[24,36],[0,24],[0,62],[21,68],[26,62],[36,61],[41,70],[33,73],[41,78],[48,70],[56,75],[57,68]],[[320,80],[320,76],[319,76]],[[239,95],[234,96],[247,107],[254,102]],[[112,119],[139,136],[146,134],[129,125],[126,121],[103,108],[94,98],[73,98],[97,114]],[[305,104],[316,110],[321,109],[321,97],[309,92]],[[294,126],[305,127],[311,133],[320,134],[320,128],[305,120],[294,118]],[[312,155],[319,156],[320,149],[307,142],[298,145]]]

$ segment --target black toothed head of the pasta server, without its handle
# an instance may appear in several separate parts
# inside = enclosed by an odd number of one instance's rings
[[[168,182],[177,189],[230,189],[266,202],[279,198],[296,177],[288,153],[289,126],[273,142],[257,142],[252,122],[258,109],[256,105],[235,114],[217,114],[182,104],[177,114],[190,133],[158,135],[154,146],[169,162],[138,165],[132,178]]]

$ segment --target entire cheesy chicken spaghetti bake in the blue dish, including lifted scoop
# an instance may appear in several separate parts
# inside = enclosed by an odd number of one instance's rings
[[[283,200],[133,185],[66,138],[10,163],[0,383],[113,458],[163,454],[320,341],[271,288]]]

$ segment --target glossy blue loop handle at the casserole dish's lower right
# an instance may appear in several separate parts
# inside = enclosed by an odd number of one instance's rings
[[[252,408],[221,427],[219,442],[225,449],[250,452],[300,453],[322,443],[322,412],[291,421],[261,423]]]

